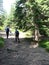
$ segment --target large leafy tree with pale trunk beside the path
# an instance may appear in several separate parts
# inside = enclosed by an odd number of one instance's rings
[[[42,35],[47,35],[44,27],[48,28],[48,2],[48,0],[20,0],[16,3],[15,20],[17,21],[17,26],[20,28],[23,28],[24,25],[24,28],[28,28],[28,26],[33,28],[34,26],[34,40],[36,41],[39,41],[39,33]]]

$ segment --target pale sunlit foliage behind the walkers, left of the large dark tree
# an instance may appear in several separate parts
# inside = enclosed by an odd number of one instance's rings
[[[16,26],[16,22],[14,19],[14,11],[15,11],[15,4],[12,4],[10,14],[7,15],[6,20],[4,21],[4,27],[9,26],[11,28],[14,28]]]

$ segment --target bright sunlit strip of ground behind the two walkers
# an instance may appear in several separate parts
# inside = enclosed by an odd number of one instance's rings
[[[0,36],[3,38],[6,38],[6,32],[5,31],[0,31]],[[20,32],[19,38],[29,38],[31,36],[27,36],[25,32]],[[9,38],[15,38],[15,33],[12,32],[9,34]]]

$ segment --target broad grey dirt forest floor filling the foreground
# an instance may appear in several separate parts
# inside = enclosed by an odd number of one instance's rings
[[[0,48],[0,65],[49,65],[49,53],[31,44],[30,39],[26,41],[22,33],[20,43],[15,42],[13,34],[6,39],[5,32],[0,31],[0,36],[5,39],[4,48]]]

